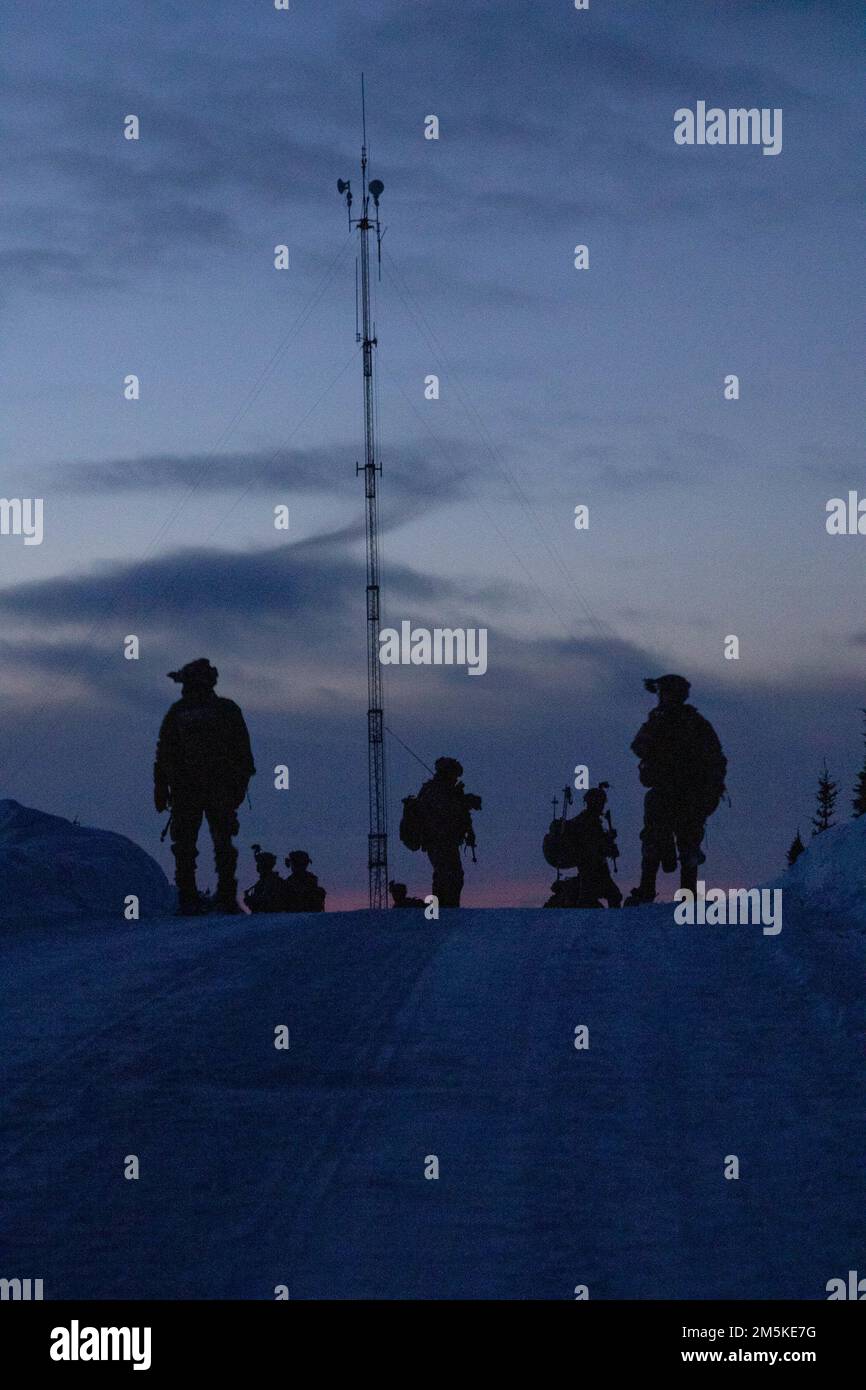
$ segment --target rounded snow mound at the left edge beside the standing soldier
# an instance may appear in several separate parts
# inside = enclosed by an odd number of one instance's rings
[[[135,894],[140,916],[171,910],[160,866],[125,835],[0,801],[0,916],[122,915]]]

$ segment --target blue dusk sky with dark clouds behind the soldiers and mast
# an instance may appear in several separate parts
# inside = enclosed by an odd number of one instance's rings
[[[43,498],[44,539],[0,537],[0,795],[170,872],[165,673],[207,656],[259,767],[242,885],[260,841],[306,848],[328,906],[366,902],[357,235],[336,193],[364,71],[385,621],[489,632],[484,676],[385,671],[386,724],[484,796],[464,903],[544,901],[578,763],[612,784],[637,883],[645,676],[685,674],[728,755],[708,880],[781,870],[824,758],[845,819],[866,535],[828,535],[826,506],[866,496],[862,24],[853,0],[4,4],[0,495]],[[781,153],[676,145],[698,101],[781,108]],[[427,774],[392,739],[388,776],[392,876],[427,891],[396,834]],[[213,880],[207,841],[199,863]]]

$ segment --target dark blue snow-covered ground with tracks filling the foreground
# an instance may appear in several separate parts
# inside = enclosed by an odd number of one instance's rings
[[[866,1270],[866,916],[795,897],[777,937],[670,905],[4,929],[0,1275],[826,1298]]]

